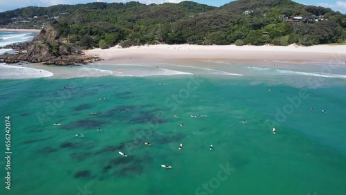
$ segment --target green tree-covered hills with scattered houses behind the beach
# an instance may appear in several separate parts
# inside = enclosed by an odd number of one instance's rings
[[[3,26],[23,25],[22,20],[38,28],[46,22],[57,30],[56,41],[81,48],[157,43],[309,46],[346,39],[345,15],[290,0],[239,0],[219,8],[192,1],[88,3],[0,13]]]

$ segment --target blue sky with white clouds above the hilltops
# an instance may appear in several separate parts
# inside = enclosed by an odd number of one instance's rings
[[[27,6],[53,6],[57,4],[78,4],[78,3],[91,3],[95,1],[102,1],[102,2],[121,2],[125,3],[131,0],[15,0],[13,3],[8,3],[10,1],[8,0],[0,0],[0,12],[4,12],[7,10],[14,10],[17,8],[24,8]],[[182,0],[132,0],[132,1],[139,1],[140,3],[179,3]],[[229,3],[233,0],[192,0],[197,3],[203,3],[207,4],[209,6],[223,6],[226,3]],[[311,5],[311,6],[322,6],[325,8],[331,8],[332,10],[342,12],[343,14],[346,14],[346,0],[338,1],[338,0],[295,0],[298,3],[302,3],[305,5]]]

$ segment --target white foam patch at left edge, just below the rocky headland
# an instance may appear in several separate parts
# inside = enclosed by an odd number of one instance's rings
[[[10,66],[5,63],[0,63],[0,79],[30,79],[51,77],[53,75],[53,73],[41,69]]]

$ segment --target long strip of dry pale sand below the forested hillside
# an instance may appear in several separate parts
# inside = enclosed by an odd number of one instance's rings
[[[281,62],[335,62],[346,61],[346,45],[318,46],[198,46],[198,45],[150,45],[109,49],[96,48],[84,51],[99,55],[105,64],[172,61],[281,61]],[[335,64],[334,63],[334,64]]]

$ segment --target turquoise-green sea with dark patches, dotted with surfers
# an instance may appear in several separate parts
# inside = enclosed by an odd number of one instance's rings
[[[292,84],[306,80],[0,80],[3,156],[6,115],[12,128],[11,190],[0,158],[0,194],[345,194],[345,82]],[[232,169],[222,180],[220,166]]]

